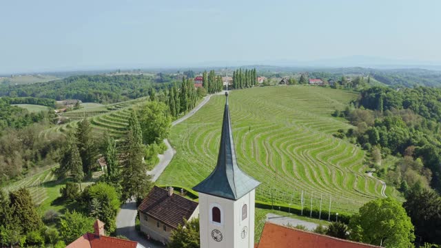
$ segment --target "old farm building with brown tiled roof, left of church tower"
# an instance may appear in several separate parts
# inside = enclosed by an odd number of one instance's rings
[[[138,207],[141,231],[147,237],[166,243],[172,230],[185,220],[198,217],[198,203],[179,194],[172,187],[154,186]]]

